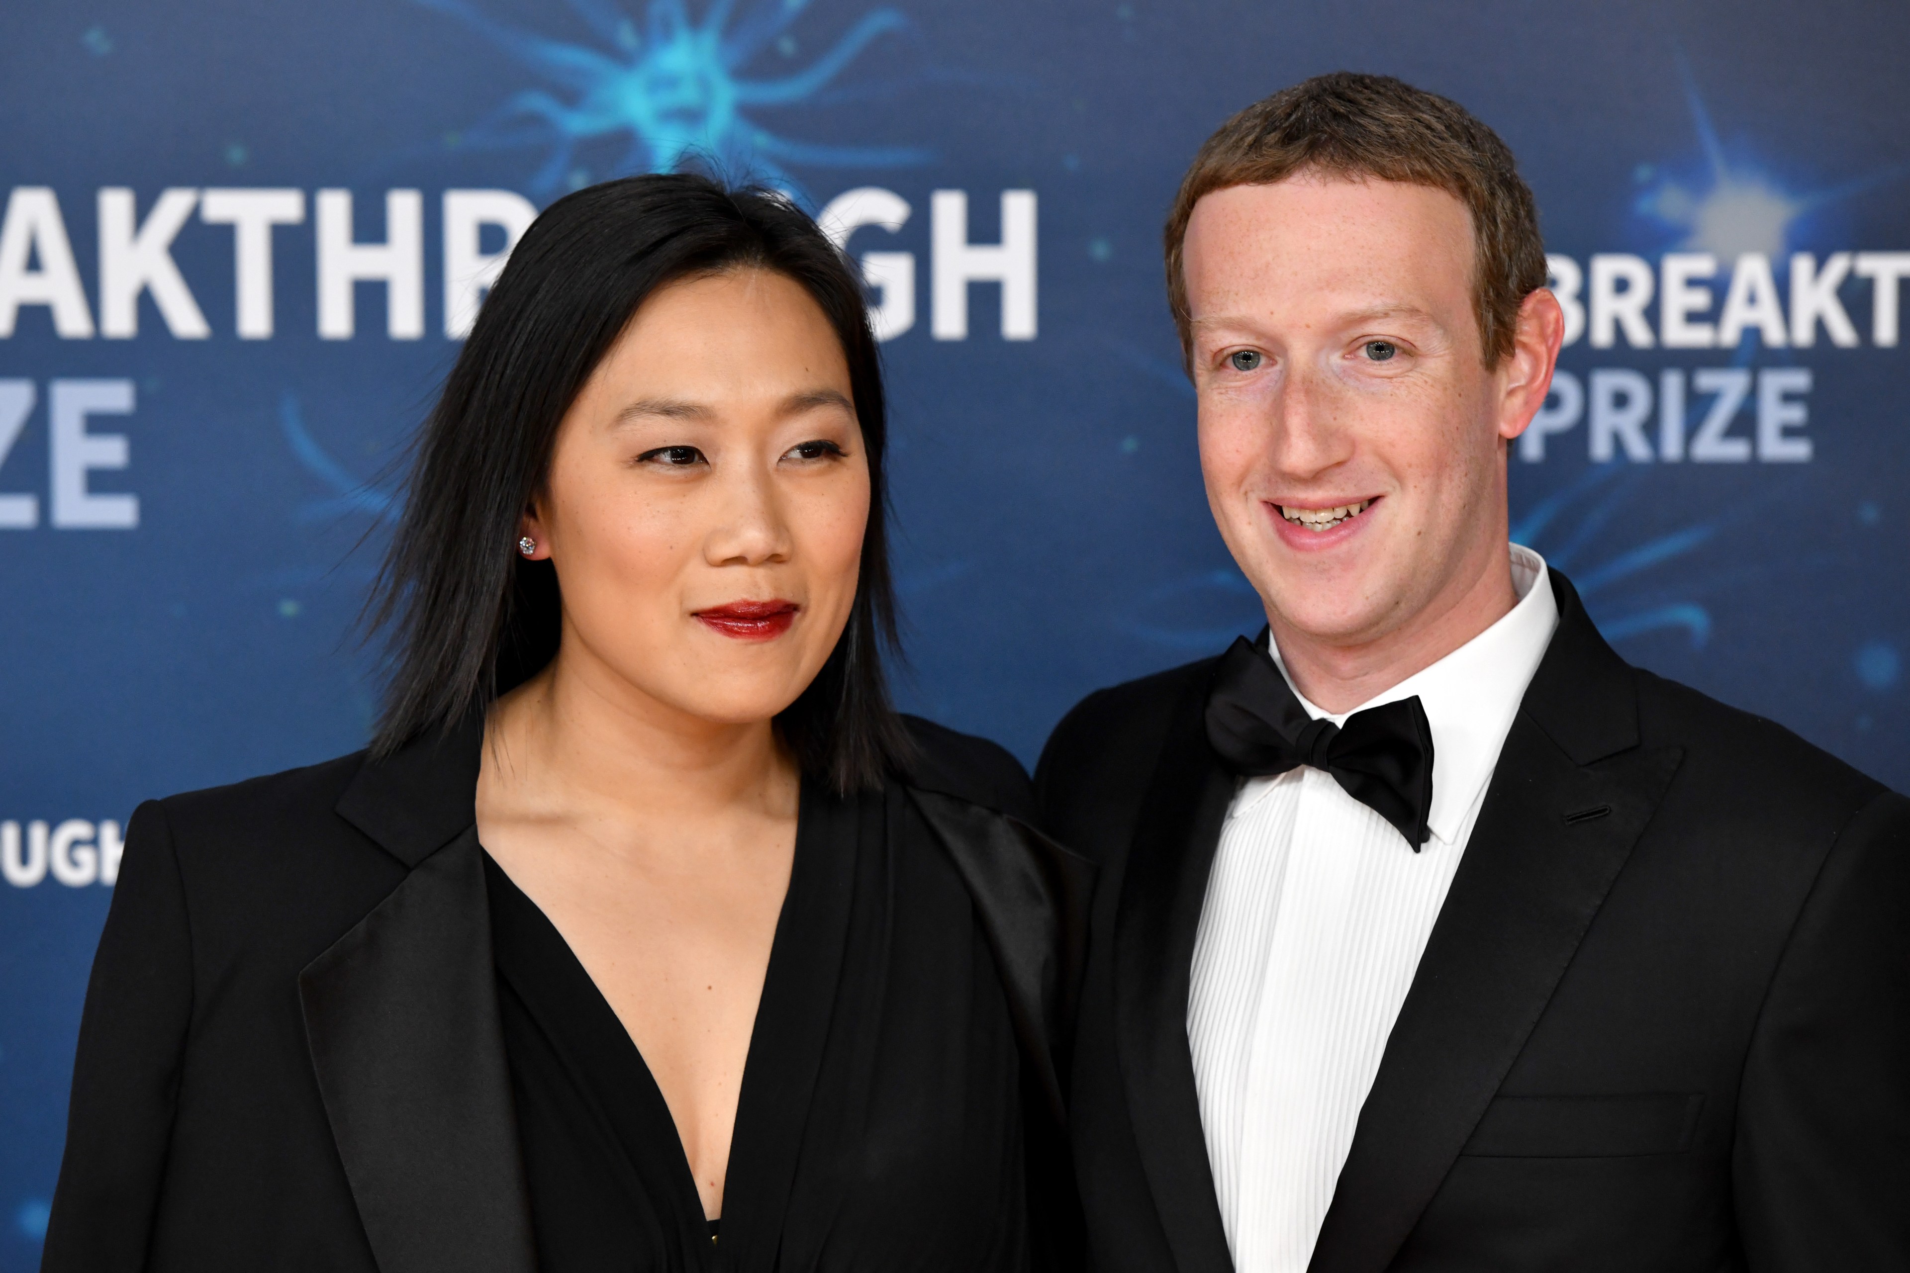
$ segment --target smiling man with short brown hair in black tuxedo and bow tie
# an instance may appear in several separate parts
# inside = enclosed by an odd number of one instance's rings
[[[1289,88],[1196,157],[1167,282],[1268,636],[1041,758],[1102,863],[1096,1267],[1910,1269],[1910,802],[1507,546],[1562,317],[1505,145]]]

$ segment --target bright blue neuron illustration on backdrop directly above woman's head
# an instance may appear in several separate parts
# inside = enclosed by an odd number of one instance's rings
[[[642,29],[611,0],[565,0],[604,48],[520,31],[466,0],[416,2],[466,23],[548,82],[548,90],[514,94],[460,137],[462,145],[491,149],[546,147],[544,166],[529,181],[533,195],[584,183],[588,176],[573,168],[577,147],[598,141],[623,147],[613,174],[676,172],[686,162],[703,162],[730,179],[793,193],[800,185],[785,164],[888,168],[926,158],[926,151],[913,147],[795,141],[747,115],[823,101],[825,90],[875,40],[909,31],[894,10],[865,13],[802,71],[751,78],[745,67],[764,48],[775,44],[785,55],[795,50],[789,29],[810,0],[756,0],[741,17],[737,0],[711,0],[701,21],[691,21],[684,0],[649,0]]]

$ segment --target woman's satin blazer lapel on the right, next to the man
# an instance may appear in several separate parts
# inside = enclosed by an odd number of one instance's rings
[[[1005,813],[940,792],[909,788],[909,798],[968,887],[1022,1054],[1064,1124],[1058,1076],[1068,1073],[1094,865]]]

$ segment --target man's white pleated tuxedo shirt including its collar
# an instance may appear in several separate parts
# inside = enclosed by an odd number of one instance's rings
[[[1320,769],[1249,779],[1228,805],[1194,941],[1188,1046],[1240,1273],[1305,1273],[1312,1260],[1387,1036],[1559,626],[1545,561],[1518,544],[1511,555],[1511,613],[1360,704],[1419,695],[1432,727],[1432,838],[1419,853]],[[1350,716],[1301,706],[1335,725]]]

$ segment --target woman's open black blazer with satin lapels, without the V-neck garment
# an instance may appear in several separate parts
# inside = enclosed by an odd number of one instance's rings
[[[1064,1023],[1093,868],[1029,828],[1014,758],[909,731],[902,781],[968,886],[1022,1044],[1031,1174],[1066,1179]],[[42,1269],[533,1273],[479,744],[472,725],[139,807]]]

